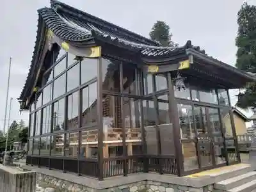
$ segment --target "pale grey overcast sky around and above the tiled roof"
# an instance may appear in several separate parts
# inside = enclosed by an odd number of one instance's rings
[[[173,41],[180,45],[191,40],[205,51],[230,65],[236,61],[235,38],[237,12],[243,0],[62,0],[85,12],[130,29],[143,36],[157,20],[170,25]],[[248,0],[256,4],[256,0]],[[158,3],[158,4],[157,4]],[[17,97],[26,81],[35,45],[38,15],[36,10],[49,6],[49,0],[1,0],[0,35],[0,129],[3,129],[8,63],[12,56],[10,97],[13,97],[11,120],[23,119],[28,123],[28,113],[19,115]],[[233,104],[238,92],[231,92]],[[10,99],[9,99],[10,100]],[[250,116],[250,113],[246,113]]]

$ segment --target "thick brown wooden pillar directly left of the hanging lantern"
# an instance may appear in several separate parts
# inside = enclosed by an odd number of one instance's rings
[[[169,115],[170,115],[170,122],[172,122],[173,126],[173,138],[174,138],[174,146],[175,146],[175,157],[177,163],[177,172],[178,176],[182,176],[184,173],[184,162],[183,162],[183,155],[182,155],[182,145],[180,141],[180,122],[179,122],[179,113],[178,113],[178,106],[177,101],[174,95],[174,89],[172,84],[172,77],[171,73],[168,72],[167,74],[167,82],[168,82],[168,100],[169,100]]]

